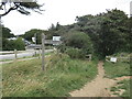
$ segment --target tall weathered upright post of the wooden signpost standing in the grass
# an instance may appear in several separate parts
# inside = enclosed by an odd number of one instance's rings
[[[45,43],[45,35],[44,33],[42,33],[42,70],[44,70],[44,54],[45,54],[45,46],[44,46],[44,43]]]

